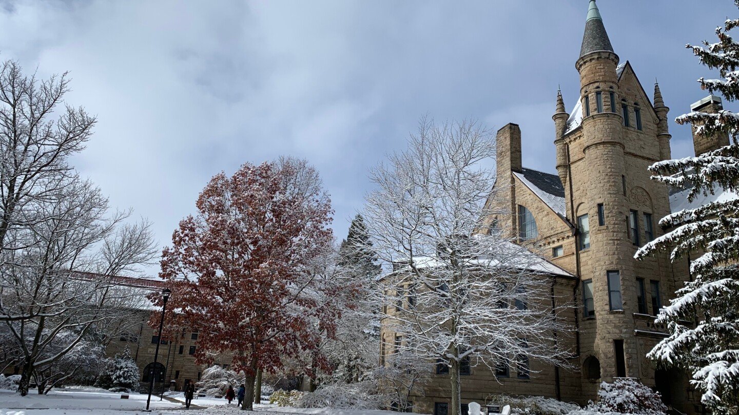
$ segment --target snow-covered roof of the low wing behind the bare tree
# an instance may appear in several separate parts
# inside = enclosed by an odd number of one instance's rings
[[[494,236],[476,235],[476,237],[493,238]],[[534,272],[541,272],[543,274],[574,278],[574,275],[572,275],[570,272],[557,267],[555,264],[552,264],[550,261],[542,258],[542,256],[531,252],[531,250],[528,250],[525,247],[514,244],[513,242],[500,241],[500,244],[497,245],[496,250],[500,250],[500,256],[505,256],[505,258],[500,259],[500,257],[497,255],[479,255],[476,259],[468,261],[468,264],[472,266],[481,265],[485,267],[497,267],[502,265],[503,267],[511,267],[520,270],[529,270]],[[433,258],[430,256],[415,256],[413,258],[413,262],[415,264],[415,267],[421,269],[443,267],[446,265],[445,262],[439,261],[437,260],[437,258]]]

